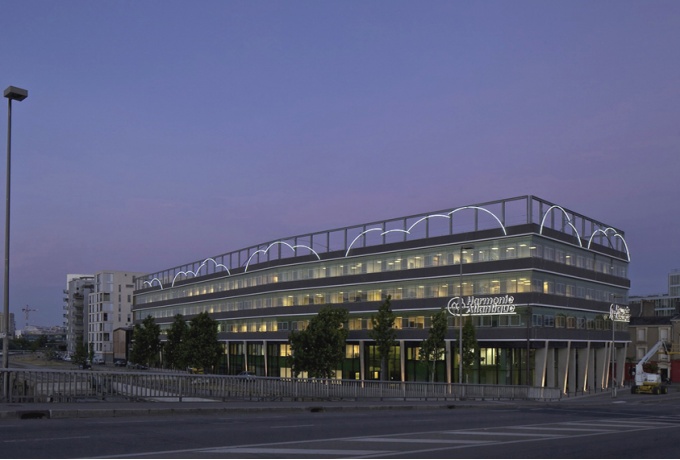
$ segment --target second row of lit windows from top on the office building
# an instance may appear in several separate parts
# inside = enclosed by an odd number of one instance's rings
[[[532,278],[533,276],[533,278]],[[202,312],[223,313],[234,311],[259,310],[272,307],[297,305],[339,305],[352,302],[383,301],[387,296],[393,300],[451,298],[453,296],[501,295],[537,292],[574,297],[586,300],[607,302],[620,291],[557,275],[531,272],[504,273],[465,277],[462,286],[460,277],[439,280],[429,279],[409,282],[380,283],[357,288],[336,287],[319,290],[300,290],[294,292],[275,292],[249,297],[218,299],[193,304],[140,309],[135,311],[135,320],[147,315],[159,318],[173,318],[197,315]]]

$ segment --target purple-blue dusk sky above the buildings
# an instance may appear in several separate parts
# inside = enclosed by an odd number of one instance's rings
[[[12,129],[20,328],[24,305],[61,324],[68,273],[527,194],[624,230],[631,294],[680,268],[678,1],[3,11],[0,89],[29,91]],[[5,103],[2,158],[6,126]]]

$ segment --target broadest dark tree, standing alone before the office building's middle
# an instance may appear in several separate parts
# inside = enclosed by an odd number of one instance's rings
[[[324,307],[309,321],[303,331],[293,331],[288,336],[291,348],[291,365],[297,377],[307,372],[313,378],[331,378],[345,357],[349,318],[347,310]]]

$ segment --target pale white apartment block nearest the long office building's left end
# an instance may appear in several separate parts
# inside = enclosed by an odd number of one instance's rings
[[[113,362],[113,331],[132,325],[132,293],[134,278],[142,273],[100,271],[94,275],[94,290],[89,295],[88,347],[95,356]]]

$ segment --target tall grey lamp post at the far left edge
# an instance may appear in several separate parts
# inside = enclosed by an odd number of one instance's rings
[[[28,91],[8,86],[5,89],[7,98],[7,181],[5,192],[5,280],[3,296],[3,317],[2,317],[2,367],[9,368],[9,205],[10,205],[10,177],[12,159],[12,101],[21,102],[28,97]],[[3,392],[5,398],[9,397],[9,376],[4,373]]]

